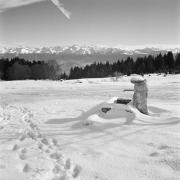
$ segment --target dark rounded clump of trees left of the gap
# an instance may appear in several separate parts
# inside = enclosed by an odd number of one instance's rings
[[[19,57],[12,59],[0,59],[0,79],[24,80],[24,79],[52,79],[60,76],[61,69],[56,61],[27,61]]]

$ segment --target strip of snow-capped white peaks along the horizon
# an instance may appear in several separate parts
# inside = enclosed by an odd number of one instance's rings
[[[114,54],[120,53],[125,55],[144,54],[148,55],[154,52],[172,51],[173,53],[180,52],[180,48],[158,48],[158,47],[144,47],[137,49],[127,49],[119,47],[106,46],[54,46],[54,47],[0,47],[0,54],[76,54],[76,55],[93,55],[93,54]]]

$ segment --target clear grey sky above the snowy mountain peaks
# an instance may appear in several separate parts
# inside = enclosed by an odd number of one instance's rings
[[[180,44],[179,0],[60,3],[65,12],[50,0],[0,0],[0,44],[32,47]]]

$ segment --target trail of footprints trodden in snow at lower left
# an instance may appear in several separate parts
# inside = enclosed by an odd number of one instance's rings
[[[81,172],[81,167],[79,165],[73,165],[70,159],[65,159],[63,157],[60,153],[60,147],[56,139],[47,139],[42,136],[37,125],[33,123],[33,113],[26,108],[20,110],[23,114],[21,120],[26,128],[21,133],[18,143],[14,144],[12,147],[13,151],[18,151],[19,159],[22,161],[27,159],[28,149],[21,148],[20,144],[23,143],[26,138],[31,138],[36,144],[36,148],[41,156],[43,153],[43,158],[50,160],[53,163],[53,168],[50,172],[53,174],[51,180],[69,180],[77,178]],[[24,166],[22,167],[23,173],[34,172],[32,175],[33,179],[42,179],[42,177],[38,178],[38,176],[43,174],[43,171],[43,169],[33,169],[28,163],[24,163]]]

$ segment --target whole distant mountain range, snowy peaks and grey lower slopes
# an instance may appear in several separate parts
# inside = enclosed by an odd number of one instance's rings
[[[180,48],[119,48],[105,46],[55,46],[55,47],[0,47],[0,58],[12,58],[15,56],[27,60],[57,60],[62,65],[64,71],[69,71],[72,66],[84,66],[93,62],[115,62],[117,60],[126,59],[128,56],[136,59],[137,57],[157,55],[159,53],[180,52]]]

